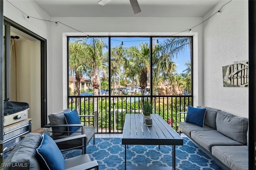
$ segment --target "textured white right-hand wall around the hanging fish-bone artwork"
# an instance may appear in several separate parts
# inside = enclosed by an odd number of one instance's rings
[[[227,1],[221,1],[204,20]],[[248,60],[248,1],[235,0],[204,23],[204,106],[248,117],[248,88],[223,87],[222,66]]]

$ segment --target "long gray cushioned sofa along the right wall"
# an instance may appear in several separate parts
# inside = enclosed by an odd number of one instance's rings
[[[248,170],[248,118],[210,107],[205,108],[204,126],[185,121],[179,129],[224,170]],[[180,117],[185,117],[180,115]]]

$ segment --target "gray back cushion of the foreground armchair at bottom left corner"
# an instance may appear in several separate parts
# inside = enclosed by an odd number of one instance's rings
[[[36,149],[40,145],[42,135],[39,133],[29,133],[25,138],[20,141],[10,152],[9,156],[4,160],[8,164],[20,164],[22,170],[40,170],[39,163],[36,159]],[[3,170],[18,170],[20,167],[9,166],[4,167]]]

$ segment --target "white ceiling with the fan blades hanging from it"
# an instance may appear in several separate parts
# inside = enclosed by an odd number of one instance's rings
[[[134,14],[129,0],[34,0],[52,17],[202,17],[220,0],[138,0]]]

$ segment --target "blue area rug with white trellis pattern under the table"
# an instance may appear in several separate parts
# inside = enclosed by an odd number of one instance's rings
[[[177,170],[222,170],[188,138],[183,146],[176,146]],[[172,146],[129,145],[126,150],[127,166],[172,166]],[[92,160],[97,160],[100,170],[124,170],[124,145],[121,138],[96,138],[86,148]],[[81,150],[63,153],[64,158],[81,154]],[[172,169],[172,168],[170,168]]]

